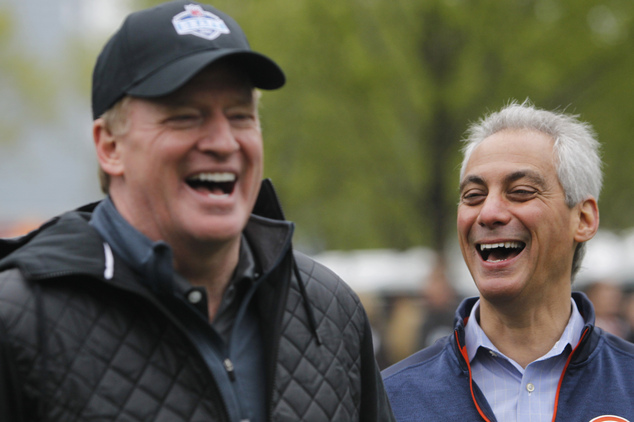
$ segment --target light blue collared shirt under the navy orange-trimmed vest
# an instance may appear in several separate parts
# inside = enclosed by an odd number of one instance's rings
[[[465,327],[465,344],[473,381],[493,409],[498,421],[550,421],[557,386],[568,356],[581,338],[584,322],[574,300],[568,325],[554,347],[522,368],[491,343],[480,324],[480,301],[471,309]]]

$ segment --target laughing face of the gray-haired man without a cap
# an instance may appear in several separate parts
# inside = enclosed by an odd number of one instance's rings
[[[476,147],[460,183],[458,236],[482,298],[569,297],[579,209],[565,203],[550,136],[503,130]]]

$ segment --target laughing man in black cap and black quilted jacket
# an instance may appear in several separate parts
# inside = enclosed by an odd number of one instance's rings
[[[237,23],[131,14],[93,74],[106,198],[0,242],[0,420],[389,421],[356,295],[294,252]]]

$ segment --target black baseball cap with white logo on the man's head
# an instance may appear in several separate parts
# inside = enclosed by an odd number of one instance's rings
[[[176,0],[130,14],[97,58],[92,113],[97,119],[123,96],[174,92],[209,64],[230,57],[256,88],[286,79],[268,57],[251,50],[231,16],[207,4]]]

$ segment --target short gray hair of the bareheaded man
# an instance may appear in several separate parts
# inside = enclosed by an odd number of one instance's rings
[[[603,184],[600,145],[592,126],[579,116],[535,108],[529,100],[512,101],[498,112],[490,113],[467,130],[460,179],[474,149],[487,137],[505,129],[525,129],[545,133],[554,140],[553,151],[559,182],[572,208],[588,197],[599,200]],[[577,245],[572,261],[572,277],[579,271],[585,255],[585,243]]]

